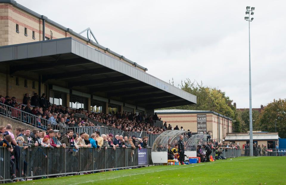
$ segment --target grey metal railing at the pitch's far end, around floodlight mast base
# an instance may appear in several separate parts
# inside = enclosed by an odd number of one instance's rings
[[[241,150],[241,156],[250,156],[250,149]],[[253,156],[286,156],[286,149],[257,148],[253,150]]]

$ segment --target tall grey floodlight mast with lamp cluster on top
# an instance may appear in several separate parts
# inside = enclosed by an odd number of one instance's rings
[[[254,14],[255,7],[246,7],[245,14],[248,14],[249,17],[244,17],[245,21],[248,21],[248,40],[249,40],[249,150],[250,156],[253,156],[253,131],[252,131],[252,98],[251,98],[251,63],[250,63],[250,22],[254,18],[250,18]]]

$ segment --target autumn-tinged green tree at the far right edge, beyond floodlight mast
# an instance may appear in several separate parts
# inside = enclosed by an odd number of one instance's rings
[[[259,119],[254,122],[261,131],[279,132],[279,137],[286,138],[286,99],[273,100],[261,111]]]

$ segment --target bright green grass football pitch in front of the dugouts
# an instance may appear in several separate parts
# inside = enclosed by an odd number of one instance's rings
[[[286,185],[285,157],[238,157],[180,166],[151,166],[17,184],[266,184]]]

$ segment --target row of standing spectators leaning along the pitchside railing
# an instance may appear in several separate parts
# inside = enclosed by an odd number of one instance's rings
[[[73,130],[67,130],[66,133],[60,133],[59,130],[52,130],[51,127],[46,131],[40,131],[38,129],[22,129],[20,127],[15,128],[15,135],[12,132],[12,125],[0,127],[0,146],[7,147],[10,151],[10,172],[11,179],[15,179],[16,174],[20,174],[23,179],[27,179],[27,166],[28,163],[24,161],[24,167],[20,168],[19,159],[23,155],[27,148],[42,147],[49,148],[49,150],[56,150],[60,147],[72,147],[73,151],[77,152],[80,148],[96,148],[96,150],[106,150],[107,147],[112,147],[113,150],[119,148],[147,148],[148,137],[137,138],[136,136],[119,136],[116,135],[115,139],[113,134],[101,134],[99,131],[95,131],[91,136],[82,133],[74,133]],[[22,150],[20,150],[22,148]],[[47,154],[45,154],[47,158]],[[25,157],[24,157],[25,159]],[[21,172],[20,172],[21,171]],[[1,178],[1,177],[0,177]]]

